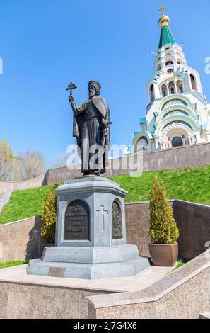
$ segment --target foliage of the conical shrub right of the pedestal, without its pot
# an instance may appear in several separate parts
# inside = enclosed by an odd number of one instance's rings
[[[177,244],[179,230],[177,228],[173,209],[168,203],[167,193],[163,182],[157,176],[153,180],[151,191],[150,235],[155,244]]]

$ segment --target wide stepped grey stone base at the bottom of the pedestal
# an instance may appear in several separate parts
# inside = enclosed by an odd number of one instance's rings
[[[139,256],[136,245],[115,247],[45,247],[41,259],[30,260],[28,274],[63,278],[134,276],[151,262]]]

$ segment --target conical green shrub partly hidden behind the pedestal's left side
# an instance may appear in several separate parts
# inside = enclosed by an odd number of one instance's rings
[[[47,196],[45,197],[44,205],[42,208],[42,227],[41,236],[47,243],[54,243],[55,239],[55,226],[57,218],[57,197],[54,190],[57,185],[49,188]]]

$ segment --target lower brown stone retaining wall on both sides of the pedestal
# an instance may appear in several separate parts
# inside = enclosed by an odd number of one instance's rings
[[[170,201],[180,229],[179,256],[193,259],[206,250],[210,241],[210,206]],[[148,203],[126,203],[127,244],[136,244],[141,256],[149,256]],[[0,262],[39,257],[41,218],[28,218],[0,225]]]

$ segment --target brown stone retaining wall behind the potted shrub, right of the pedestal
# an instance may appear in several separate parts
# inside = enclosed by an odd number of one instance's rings
[[[206,250],[210,241],[210,206],[170,201],[177,226],[180,230],[179,256],[193,259]],[[127,203],[125,214],[127,222],[127,243],[136,244],[142,256],[149,256],[149,203]]]

